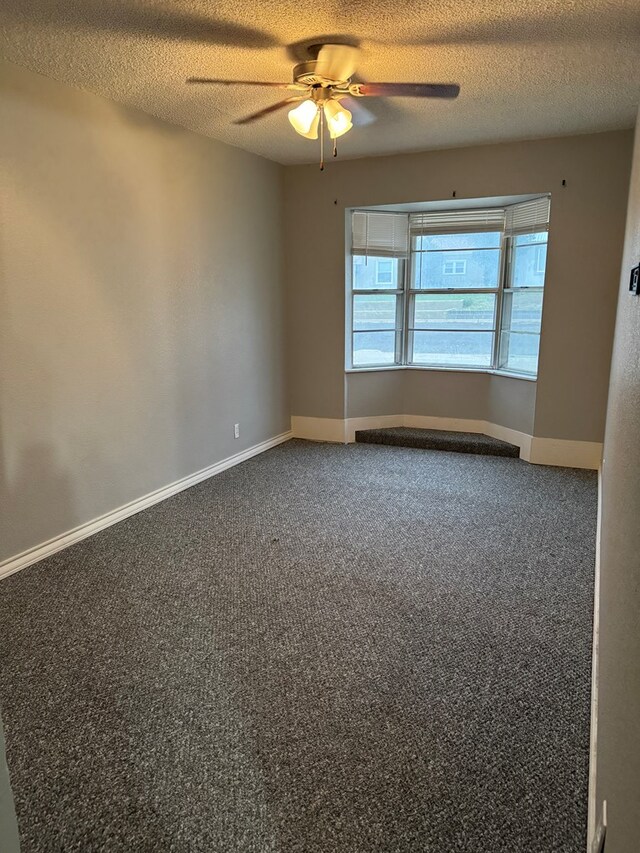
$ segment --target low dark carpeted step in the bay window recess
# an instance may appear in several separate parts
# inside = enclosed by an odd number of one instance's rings
[[[520,448],[507,441],[478,432],[449,432],[443,429],[415,427],[385,427],[359,429],[356,441],[364,444],[390,444],[394,447],[415,447],[421,450],[448,450],[454,453],[482,453],[484,456],[520,457]]]

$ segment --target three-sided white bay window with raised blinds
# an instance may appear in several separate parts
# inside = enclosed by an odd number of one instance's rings
[[[354,211],[352,369],[535,376],[549,197],[487,210]]]

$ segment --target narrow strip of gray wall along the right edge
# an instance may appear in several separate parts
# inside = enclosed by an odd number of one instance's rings
[[[597,810],[607,853],[640,846],[640,115],[611,363],[602,469]]]

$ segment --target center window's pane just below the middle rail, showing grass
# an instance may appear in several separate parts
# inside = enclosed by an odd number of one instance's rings
[[[413,328],[493,329],[495,312],[493,293],[419,294],[414,297]]]

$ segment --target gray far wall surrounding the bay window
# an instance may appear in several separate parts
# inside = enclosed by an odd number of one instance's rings
[[[398,414],[391,409],[403,399],[406,414],[602,441],[631,143],[629,131],[618,131],[338,160],[322,173],[287,167],[292,414]],[[443,371],[345,377],[345,208],[446,199],[454,191],[458,199],[552,193],[537,383]]]

